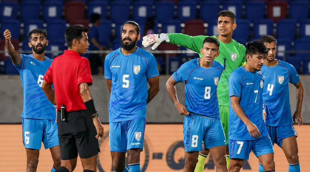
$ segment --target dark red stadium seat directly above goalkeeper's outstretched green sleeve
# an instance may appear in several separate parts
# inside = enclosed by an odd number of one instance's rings
[[[189,36],[205,35],[204,23],[201,19],[188,20],[185,22],[184,33]]]

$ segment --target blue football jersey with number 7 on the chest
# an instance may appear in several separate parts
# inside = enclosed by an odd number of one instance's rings
[[[266,125],[263,120],[263,85],[264,80],[260,71],[252,73],[244,67],[238,67],[229,77],[229,97],[237,96],[240,98],[239,104],[250,119],[255,124],[262,135],[267,136]],[[228,138],[232,140],[254,140],[246,125],[232,110],[229,99],[229,129]],[[261,138],[261,137],[259,137]]]

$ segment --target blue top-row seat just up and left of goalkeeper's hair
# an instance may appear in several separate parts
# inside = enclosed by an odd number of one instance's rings
[[[205,22],[216,22],[219,14],[218,1],[201,1],[200,2],[200,19]]]

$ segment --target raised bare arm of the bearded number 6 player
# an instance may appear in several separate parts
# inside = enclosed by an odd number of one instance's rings
[[[12,36],[10,30],[5,30],[3,36],[5,38],[5,48],[7,49],[7,54],[9,54],[13,64],[15,64],[16,66],[19,65],[21,61],[21,56],[17,51],[15,51],[14,46],[11,43]]]

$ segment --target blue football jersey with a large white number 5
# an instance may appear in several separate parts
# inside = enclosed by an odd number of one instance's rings
[[[112,80],[109,122],[146,117],[147,79],[157,75],[154,56],[139,47],[130,55],[121,48],[109,53],[104,60],[104,77]]]

